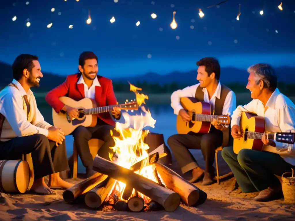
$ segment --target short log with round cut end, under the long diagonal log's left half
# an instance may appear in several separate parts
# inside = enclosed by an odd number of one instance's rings
[[[107,175],[103,175],[105,179],[104,182],[101,182],[96,187],[92,188],[89,192],[86,193],[84,201],[85,204],[90,208],[99,207],[109,192],[112,190],[116,180],[108,177]]]

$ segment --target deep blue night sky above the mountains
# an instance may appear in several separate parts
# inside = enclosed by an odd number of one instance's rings
[[[30,53],[43,71],[68,75],[77,71],[80,53],[90,50],[106,77],[189,71],[206,56],[217,57],[222,67],[295,66],[295,1],[282,1],[282,11],[276,0],[228,0],[207,8],[220,1],[2,1],[0,61],[12,64],[20,53]],[[173,11],[176,29],[170,27]]]

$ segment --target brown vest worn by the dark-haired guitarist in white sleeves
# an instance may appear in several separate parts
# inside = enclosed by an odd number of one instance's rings
[[[220,85],[221,85],[220,99],[219,98],[215,99],[214,115],[222,115],[222,109],[223,109],[225,98],[227,94],[231,91],[231,89],[228,88],[227,86],[223,84],[220,84]],[[195,97],[196,99],[200,101],[204,101],[203,88],[201,88],[200,86],[197,87]],[[230,135],[230,126],[226,128],[225,130],[223,130],[222,133],[223,133],[222,147],[231,146],[233,139],[232,139],[232,136]]]

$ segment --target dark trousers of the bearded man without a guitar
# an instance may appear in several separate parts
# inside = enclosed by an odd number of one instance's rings
[[[0,142],[0,160],[18,160],[29,153],[32,154],[35,179],[69,169],[65,142],[56,146],[42,134]]]

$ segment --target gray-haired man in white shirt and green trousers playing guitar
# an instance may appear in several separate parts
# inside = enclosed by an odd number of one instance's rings
[[[266,131],[294,131],[295,105],[278,90],[277,76],[271,65],[256,64],[249,67],[248,72],[246,88],[253,100],[244,106],[239,105],[233,112],[232,137],[242,138],[239,125],[243,111],[263,116]],[[254,197],[255,201],[270,201],[282,196],[281,184],[275,175],[281,177],[295,166],[295,149],[279,152],[283,143],[268,140],[264,135],[262,142],[263,151],[242,149],[235,154],[233,147],[229,146],[222,149],[222,157],[230,166],[242,192],[259,192]]]

